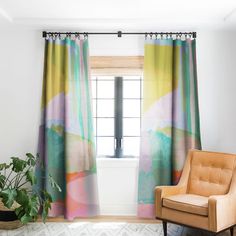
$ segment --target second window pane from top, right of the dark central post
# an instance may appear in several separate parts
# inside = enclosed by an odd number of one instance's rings
[[[140,100],[123,100],[124,117],[140,117]]]

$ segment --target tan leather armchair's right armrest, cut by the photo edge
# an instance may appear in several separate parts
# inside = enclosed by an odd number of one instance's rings
[[[208,217],[209,229],[214,232],[236,224],[236,194],[210,196]]]

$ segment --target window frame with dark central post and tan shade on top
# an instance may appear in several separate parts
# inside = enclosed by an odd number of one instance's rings
[[[98,114],[96,118],[96,147],[97,147],[97,138],[98,137],[114,137],[114,155],[102,155],[100,157],[110,157],[110,158],[127,158],[127,157],[137,157],[135,155],[123,155],[123,143],[124,138],[126,137],[141,137],[141,112],[142,112],[142,75],[143,75],[143,56],[126,56],[126,57],[90,57],[90,67],[91,75],[96,77],[96,112],[98,100],[98,76],[110,76],[114,77],[114,136],[99,136],[97,133],[98,130]],[[130,79],[131,81],[140,81],[140,98],[124,98],[123,97],[123,81],[128,81],[124,79],[124,76],[139,76],[139,79]],[[94,80],[94,79],[93,79]],[[94,99],[94,98],[93,98]],[[105,99],[105,98],[104,98]],[[108,98],[109,99],[109,98]],[[111,99],[111,98],[110,98]],[[123,116],[123,102],[124,100],[140,100],[140,114],[138,117],[124,117]],[[108,117],[103,117],[108,118]],[[123,120],[124,118],[139,118],[140,123],[140,133],[139,135],[124,135],[123,134]]]

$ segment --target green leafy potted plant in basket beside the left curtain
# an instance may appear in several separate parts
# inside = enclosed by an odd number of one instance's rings
[[[26,154],[25,159],[11,157],[9,164],[0,164],[0,228],[18,228],[38,218],[43,222],[51,208],[52,196],[37,186],[36,165],[44,170],[39,155]],[[45,176],[44,176],[45,177]],[[61,191],[49,174],[52,188]]]

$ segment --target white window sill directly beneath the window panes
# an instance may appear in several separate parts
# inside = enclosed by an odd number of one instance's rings
[[[138,157],[132,158],[97,158],[98,168],[137,168],[139,164]]]

